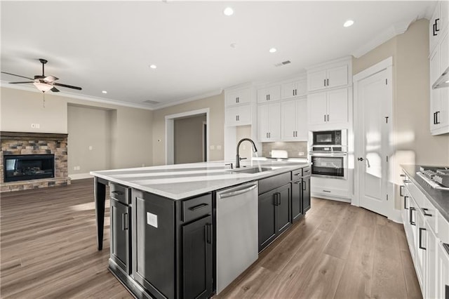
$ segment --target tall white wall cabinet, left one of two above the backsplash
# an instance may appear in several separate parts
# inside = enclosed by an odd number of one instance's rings
[[[257,107],[257,131],[259,141],[279,141],[281,139],[281,103],[274,102]]]

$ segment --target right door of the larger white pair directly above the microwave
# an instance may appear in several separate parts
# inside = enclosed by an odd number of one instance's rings
[[[328,124],[348,122],[348,90],[347,88],[328,91]]]

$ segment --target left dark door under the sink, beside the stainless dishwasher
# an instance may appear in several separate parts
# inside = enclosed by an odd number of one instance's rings
[[[259,252],[276,239],[276,190],[259,195]]]

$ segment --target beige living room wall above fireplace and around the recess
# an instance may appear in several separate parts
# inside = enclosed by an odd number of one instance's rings
[[[111,168],[128,168],[142,166],[142,164],[152,165],[153,112],[151,110],[67,98],[52,93],[46,95],[46,105],[42,107],[41,93],[3,87],[0,89],[0,93],[1,131],[68,133],[67,105],[107,109],[111,124],[109,166]],[[31,129],[32,123],[39,123],[40,128]],[[69,138],[80,140],[79,136],[69,136]],[[105,142],[107,141],[105,140]],[[83,158],[81,152],[72,152],[72,154]],[[79,159],[80,157],[72,158]],[[69,169],[69,173],[71,171],[73,171],[73,167],[72,170]]]

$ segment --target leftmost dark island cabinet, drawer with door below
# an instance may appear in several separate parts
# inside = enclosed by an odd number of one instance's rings
[[[121,185],[109,184],[111,199],[111,256],[110,258],[130,274],[130,211],[128,199],[130,189]]]

